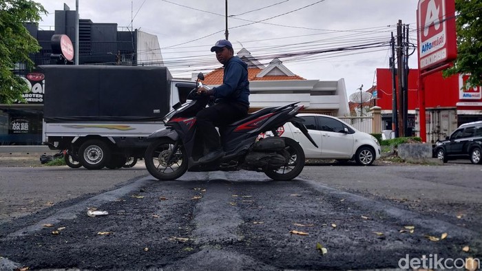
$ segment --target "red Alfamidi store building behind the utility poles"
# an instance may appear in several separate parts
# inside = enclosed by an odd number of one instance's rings
[[[437,72],[425,79],[427,142],[437,142],[459,125],[482,120],[482,87],[463,89],[467,76],[444,78]],[[408,73],[408,123],[419,136],[419,70]],[[397,80],[395,80],[398,85]],[[390,69],[377,69],[376,105],[381,107],[385,129],[391,129],[392,119],[392,74]]]

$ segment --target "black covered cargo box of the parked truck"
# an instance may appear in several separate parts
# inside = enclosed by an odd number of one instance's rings
[[[166,67],[42,65],[45,122],[155,121],[169,111]]]

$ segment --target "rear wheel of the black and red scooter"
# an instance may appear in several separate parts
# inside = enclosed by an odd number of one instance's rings
[[[284,139],[284,151],[289,153],[289,160],[279,169],[264,171],[266,176],[275,181],[289,181],[300,175],[304,168],[304,151],[298,142],[291,138]]]

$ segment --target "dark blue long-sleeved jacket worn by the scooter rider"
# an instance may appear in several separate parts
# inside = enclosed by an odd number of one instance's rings
[[[216,102],[240,102],[249,107],[248,65],[233,56],[224,65],[222,85],[213,87]]]

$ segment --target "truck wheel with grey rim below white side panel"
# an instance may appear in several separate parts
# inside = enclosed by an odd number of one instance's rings
[[[78,149],[78,158],[85,169],[102,169],[110,156],[109,146],[102,140],[87,140]]]

